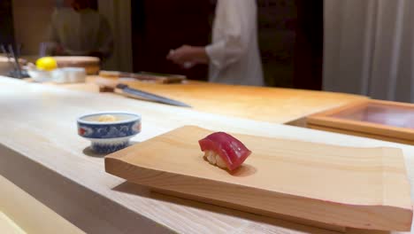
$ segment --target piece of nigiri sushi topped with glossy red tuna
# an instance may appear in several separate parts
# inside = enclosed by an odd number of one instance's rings
[[[225,132],[215,132],[198,141],[204,159],[219,168],[239,168],[251,151],[241,141]]]

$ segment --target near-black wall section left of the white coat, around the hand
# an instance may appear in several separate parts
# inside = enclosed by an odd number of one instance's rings
[[[208,0],[134,0],[132,4],[134,72],[186,74],[206,80],[207,66],[186,70],[165,59],[183,44],[206,45],[210,41],[211,9]]]

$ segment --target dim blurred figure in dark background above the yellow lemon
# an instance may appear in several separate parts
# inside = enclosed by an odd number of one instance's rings
[[[48,35],[53,55],[109,58],[113,39],[109,22],[89,0],[57,0]]]

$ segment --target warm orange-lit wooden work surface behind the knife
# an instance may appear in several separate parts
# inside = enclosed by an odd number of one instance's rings
[[[59,84],[59,86],[98,92],[95,79],[96,77],[90,76],[87,83]],[[295,121],[312,113],[366,99],[363,96],[343,93],[235,86],[210,82],[126,83],[139,90],[180,100],[192,105],[196,111],[275,123]]]

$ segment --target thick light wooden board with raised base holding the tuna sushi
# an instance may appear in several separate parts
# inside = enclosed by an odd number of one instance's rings
[[[203,160],[207,129],[185,126],[105,158],[105,170],[188,199],[328,229],[410,230],[410,185],[395,148],[237,135],[252,154],[233,174]]]

